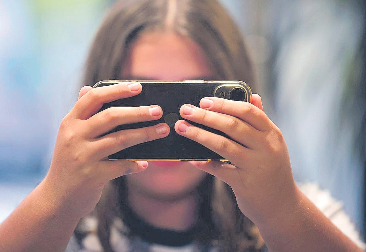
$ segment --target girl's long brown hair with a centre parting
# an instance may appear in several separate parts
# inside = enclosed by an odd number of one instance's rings
[[[172,4],[173,12],[169,9]],[[243,37],[216,0],[117,1],[91,46],[83,83],[121,79],[131,42],[151,30],[170,30],[190,37],[203,49],[216,79],[242,80],[256,90]],[[196,213],[201,232],[195,237],[197,244],[217,245],[223,251],[259,251],[263,240],[239,210],[231,187],[210,174],[199,186]],[[109,181],[91,213],[97,215],[97,235],[104,251],[113,251],[109,242],[111,224],[116,217],[123,220],[121,208],[127,201],[127,189],[124,176]]]

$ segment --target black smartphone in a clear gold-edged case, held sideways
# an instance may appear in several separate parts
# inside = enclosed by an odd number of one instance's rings
[[[96,83],[93,88],[130,81],[131,80],[103,80]],[[179,135],[175,132],[174,125],[176,121],[183,119],[199,128],[231,139],[222,131],[182,118],[179,114],[179,109],[184,104],[192,104],[199,107],[199,101],[203,97],[220,97],[235,101],[250,102],[251,89],[248,84],[242,81],[231,80],[136,81],[142,85],[141,93],[133,97],[117,99],[116,101],[105,103],[98,112],[111,106],[135,107],[155,104],[163,109],[163,116],[158,120],[119,125],[101,136],[123,129],[142,128],[163,122],[170,126],[170,132],[165,138],[140,143],[109,155],[108,158],[110,160],[228,161],[202,144]]]

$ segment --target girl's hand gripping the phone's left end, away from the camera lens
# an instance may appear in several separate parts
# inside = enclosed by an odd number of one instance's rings
[[[168,136],[169,126],[159,123],[99,137],[118,125],[157,120],[163,115],[158,105],[111,107],[97,113],[104,103],[141,92],[140,83],[137,83],[136,91],[130,90],[128,84],[133,83],[117,83],[94,89],[82,87],[74,108],[61,121],[51,167],[42,181],[60,214],[82,218],[96,206],[109,180],[141,172],[147,167],[147,161],[108,160],[108,155]],[[150,114],[149,109],[152,108],[157,108],[157,113]],[[159,126],[165,127],[166,132],[157,133]]]

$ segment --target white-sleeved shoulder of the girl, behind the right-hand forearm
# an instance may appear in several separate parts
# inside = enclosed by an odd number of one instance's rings
[[[320,189],[316,183],[306,182],[297,183],[297,185],[307,198],[309,198],[342,233],[357,244],[358,247],[366,249],[366,244],[362,241],[355,224],[343,210],[343,203],[341,201],[337,201],[333,198],[328,190]]]

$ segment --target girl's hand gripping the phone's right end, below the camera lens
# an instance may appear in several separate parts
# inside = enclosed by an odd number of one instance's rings
[[[232,164],[222,161],[189,162],[230,185],[240,210],[255,224],[280,217],[284,207],[293,204],[298,189],[282,133],[264,113],[261,97],[253,94],[251,103],[206,98],[212,101],[209,107],[203,106],[208,104],[203,98],[200,108],[184,104],[180,115],[222,131],[245,147],[179,120],[175,124],[177,133],[201,143]],[[191,113],[187,114],[189,111]]]

